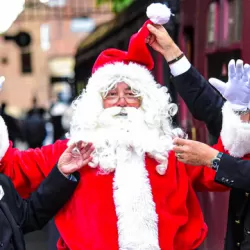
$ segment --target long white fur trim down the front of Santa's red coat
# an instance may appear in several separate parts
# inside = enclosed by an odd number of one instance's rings
[[[124,157],[126,149],[118,151],[113,188],[119,249],[160,250],[158,215],[144,156],[133,153],[128,160]]]

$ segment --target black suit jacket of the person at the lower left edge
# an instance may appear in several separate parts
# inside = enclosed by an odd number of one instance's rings
[[[75,177],[79,180],[78,175]],[[11,180],[0,174],[0,250],[24,250],[23,234],[41,229],[69,200],[78,181],[55,167],[29,199],[22,199]]]

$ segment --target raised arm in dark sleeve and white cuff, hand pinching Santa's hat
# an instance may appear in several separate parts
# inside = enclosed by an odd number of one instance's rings
[[[148,44],[161,53],[169,64],[172,82],[192,115],[207,125],[209,132],[219,137],[224,104],[223,97],[191,66],[182,51],[161,25],[148,25]]]

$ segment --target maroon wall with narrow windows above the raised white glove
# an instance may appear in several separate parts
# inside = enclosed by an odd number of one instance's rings
[[[248,0],[181,1],[179,42],[205,77],[225,78],[231,58],[250,62],[249,8]]]

